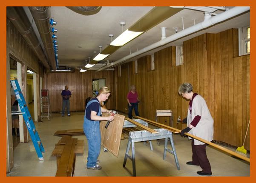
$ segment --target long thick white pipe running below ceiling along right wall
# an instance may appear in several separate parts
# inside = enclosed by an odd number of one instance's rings
[[[120,64],[122,62],[125,62],[126,60],[129,60],[129,59],[131,59],[133,57],[136,57],[136,56],[138,56],[140,54],[143,54],[143,53],[145,53],[147,51],[150,51],[152,49],[156,49],[156,48],[158,48],[160,46],[166,45],[167,43],[170,43],[170,42],[172,42],[174,40],[177,40],[177,39],[179,39],[181,37],[184,37],[184,36],[187,36],[189,34],[195,33],[197,31],[205,29],[205,28],[207,28],[209,26],[212,26],[212,25],[214,25],[216,23],[222,22],[224,20],[227,20],[227,19],[229,19],[231,17],[234,17],[236,15],[239,15],[239,14],[244,13],[244,12],[249,11],[249,10],[250,10],[250,6],[236,6],[236,7],[232,8],[232,9],[230,9],[228,11],[224,11],[223,13],[218,14],[218,15],[216,15],[214,17],[211,17],[210,14],[206,13],[205,16],[204,16],[204,21],[203,22],[198,23],[198,24],[196,24],[194,26],[191,26],[191,27],[189,27],[187,29],[184,29],[182,31],[179,31],[178,33],[173,34],[173,35],[165,38],[164,40],[158,41],[158,42],[153,43],[152,45],[147,46],[147,47],[145,47],[145,48],[143,48],[143,49],[141,49],[139,51],[136,51],[136,52],[134,52],[132,54],[129,54],[126,57],[123,57],[123,58],[121,58],[121,59],[119,59],[119,60],[117,60],[115,62],[112,62],[111,65],[104,66],[101,69],[98,69],[97,71],[101,71],[101,70],[104,70],[106,68],[115,66],[115,65]]]

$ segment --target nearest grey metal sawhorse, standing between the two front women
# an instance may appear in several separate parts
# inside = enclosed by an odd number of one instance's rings
[[[126,165],[127,157],[129,157],[129,159],[132,160],[133,176],[136,176],[135,142],[141,142],[141,141],[145,141],[145,140],[157,140],[157,139],[165,138],[163,159],[165,160],[166,152],[170,152],[174,156],[177,169],[180,170],[180,166],[179,166],[179,163],[178,163],[178,157],[177,157],[176,150],[175,150],[174,143],[173,143],[173,134],[172,134],[172,132],[170,132],[169,130],[166,130],[166,129],[154,129],[154,130],[158,131],[159,133],[158,134],[151,134],[147,130],[137,131],[137,132],[130,132],[129,133],[129,141],[128,141],[126,153],[125,153],[125,156],[124,156],[123,166]],[[167,148],[168,138],[170,139],[172,150]],[[132,156],[129,156],[129,154],[128,154],[130,146],[132,146]]]

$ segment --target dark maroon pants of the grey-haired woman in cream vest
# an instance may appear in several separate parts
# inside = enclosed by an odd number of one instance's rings
[[[191,142],[192,145],[192,161],[195,165],[200,165],[201,169],[205,173],[212,173],[210,162],[206,155],[206,144],[194,145],[194,139]]]

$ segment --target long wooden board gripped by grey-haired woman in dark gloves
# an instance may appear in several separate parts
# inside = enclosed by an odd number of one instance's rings
[[[155,123],[156,123],[156,122],[154,122],[154,121],[148,120],[148,119],[143,118],[143,117],[139,117],[139,116],[134,116],[134,117],[135,117],[135,118],[138,118],[138,119],[141,119],[141,120],[144,120],[144,121],[147,121],[148,123],[151,123],[151,124],[155,124]],[[159,125],[159,126],[162,126],[162,128],[164,128],[164,129],[169,129],[169,128],[170,128],[170,129],[172,129],[172,130],[175,130],[177,133],[180,133],[180,132],[181,132],[181,130],[175,129],[175,128],[170,127],[170,126],[166,126],[166,125],[163,125],[163,124],[160,124],[160,123],[158,123],[158,125]],[[168,127],[168,128],[167,128],[167,127]],[[231,155],[233,155],[233,156],[239,157],[239,158],[242,159],[242,160],[245,160],[245,161],[247,161],[247,162],[250,162],[250,158],[244,157],[244,156],[242,156],[242,155],[240,155],[240,154],[238,154],[238,153],[236,153],[236,152],[230,151],[229,149],[226,149],[226,148],[224,148],[224,147],[218,146],[218,145],[216,145],[215,143],[211,143],[211,142],[209,142],[209,141],[207,141],[207,140],[204,140],[204,139],[202,139],[202,138],[200,138],[200,137],[196,137],[196,136],[194,136],[194,135],[192,135],[192,134],[189,134],[189,133],[184,133],[184,134],[187,135],[187,136],[189,136],[189,137],[192,137],[192,138],[194,138],[194,139],[196,139],[196,140],[200,140],[200,141],[203,142],[203,143],[207,143],[207,144],[209,144],[210,146],[213,146],[213,147],[215,147],[215,148],[217,148],[217,149],[220,149],[221,151],[227,152],[228,154],[231,154]]]

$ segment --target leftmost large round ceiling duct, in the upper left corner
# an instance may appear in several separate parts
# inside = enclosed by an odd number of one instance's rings
[[[50,69],[49,63],[46,59],[43,49],[40,46],[40,42],[37,39],[32,24],[22,7],[8,6],[6,8],[6,14],[9,20],[13,23],[15,28],[20,32],[23,38],[28,43],[29,47],[35,52],[36,56],[39,58],[43,66],[46,69]]]

